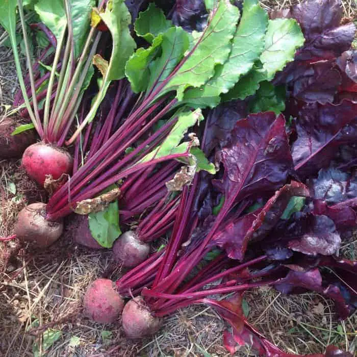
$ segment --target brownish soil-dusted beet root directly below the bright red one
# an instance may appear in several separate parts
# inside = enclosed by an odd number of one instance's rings
[[[45,203],[32,203],[18,214],[16,237],[23,242],[31,242],[38,247],[47,247],[57,241],[63,232],[62,222],[45,219]]]

